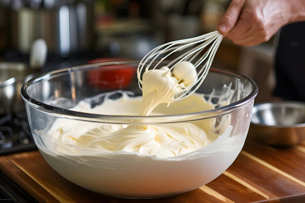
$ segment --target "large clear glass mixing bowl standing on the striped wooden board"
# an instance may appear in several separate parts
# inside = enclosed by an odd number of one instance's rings
[[[128,90],[141,95],[136,78],[139,61],[111,61],[45,73],[26,82],[21,94],[34,140],[48,164],[71,182],[109,196],[157,198],[181,194],[205,185],[223,173],[238,156],[249,129],[257,85],[235,72],[212,68],[197,93],[215,109],[174,115],[120,116],[69,110],[85,98],[91,106],[103,102],[102,93]],[[161,64],[163,65],[163,64]],[[121,93],[111,94],[110,99]],[[173,108],[174,103],[168,108]],[[115,108],[115,107],[113,107]],[[163,112],[166,113],[166,112]],[[49,133],[56,119],[84,124],[213,125],[221,136],[195,152],[160,158],[131,152],[101,152],[60,143]]]

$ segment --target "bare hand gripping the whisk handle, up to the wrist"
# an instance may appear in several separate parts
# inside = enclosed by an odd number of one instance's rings
[[[237,45],[254,46],[266,42],[295,18],[292,13],[295,1],[232,0],[217,30]]]

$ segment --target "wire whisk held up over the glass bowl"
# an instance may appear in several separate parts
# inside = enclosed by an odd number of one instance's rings
[[[173,68],[181,61],[189,61],[195,66],[186,75],[192,72],[200,64],[204,63],[204,65],[197,72],[197,81],[196,82],[193,81],[190,85],[184,87],[183,89],[181,89],[181,91],[173,95],[173,100],[174,101],[181,100],[184,97],[194,93],[206,78],[206,75],[210,70],[212,61],[214,59],[214,56],[217,52],[217,49],[222,39],[223,39],[222,35],[218,31],[214,31],[198,37],[168,42],[166,44],[162,44],[154,48],[152,51],[150,51],[148,54],[144,56],[144,58],[141,60],[138,66],[137,75],[138,75],[138,84],[140,89],[142,90],[143,83],[141,79],[141,74],[144,67],[145,67],[145,71],[148,71],[149,69],[155,69],[158,67],[158,65],[160,65],[162,61],[168,60],[170,55],[177,52],[181,52],[181,54],[177,58],[171,60],[166,65],[169,68],[168,71],[173,70]],[[205,54],[203,54],[199,58],[196,58],[203,49],[208,47],[208,45],[210,45],[210,47],[207,49]],[[183,51],[187,48],[188,51]],[[160,61],[158,61],[156,65],[153,68],[151,68],[152,63],[156,60],[159,60],[159,58]],[[183,78],[185,78],[185,76],[179,79],[178,82],[176,83],[180,83],[183,80]]]

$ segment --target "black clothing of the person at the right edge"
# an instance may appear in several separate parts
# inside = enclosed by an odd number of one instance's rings
[[[305,22],[282,28],[275,55],[274,96],[305,101]]]

